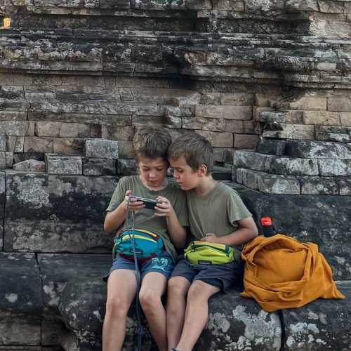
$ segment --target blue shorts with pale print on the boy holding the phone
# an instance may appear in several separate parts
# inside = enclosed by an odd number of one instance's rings
[[[164,277],[166,277],[168,280],[169,277],[171,277],[174,262],[167,251],[162,251],[160,256],[151,258],[150,260],[139,264],[138,267],[140,270],[141,279],[143,279],[147,273],[158,272],[164,274]],[[134,260],[126,260],[126,258],[117,256],[117,258],[113,260],[110,272],[103,277],[105,282],[107,282],[107,279],[114,270],[135,270]]]

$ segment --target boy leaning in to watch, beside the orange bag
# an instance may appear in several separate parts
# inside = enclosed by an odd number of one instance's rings
[[[186,134],[168,150],[173,176],[187,194],[190,230],[197,240],[237,246],[234,261],[192,265],[186,258],[168,281],[168,349],[191,351],[208,319],[208,299],[235,283],[241,270],[241,244],[258,230],[239,194],[211,176],[213,150],[197,133]]]

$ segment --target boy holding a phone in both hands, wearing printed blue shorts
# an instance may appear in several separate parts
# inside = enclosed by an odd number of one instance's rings
[[[161,296],[176,261],[176,248],[183,248],[186,240],[187,207],[185,193],[176,183],[168,182],[167,150],[171,136],[164,128],[140,128],[133,139],[135,157],[140,174],[119,180],[107,207],[106,232],[123,230],[127,211],[135,213],[135,230],[157,234],[164,250],[146,262],[138,263],[141,274],[139,292],[147,324],[160,351],[167,350],[166,311]],[[142,201],[131,195],[156,199],[155,208],[147,209]],[[173,246],[174,245],[174,246]],[[102,351],[119,351],[124,342],[126,316],[137,293],[135,263],[117,256],[107,275],[106,314],[102,329]]]

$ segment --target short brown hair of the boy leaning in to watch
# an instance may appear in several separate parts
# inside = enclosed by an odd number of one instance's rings
[[[211,143],[202,135],[188,133],[177,138],[168,149],[170,159],[184,157],[193,171],[201,164],[207,166],[207,174],[213,170],[213,148]]]

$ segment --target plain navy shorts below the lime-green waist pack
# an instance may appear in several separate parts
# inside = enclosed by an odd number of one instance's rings
[[[183,258],[174,268],[171,278],[183,277],[190,284],[195,280],[201,280],[222,291],[227,291],[229,288],[241,286],[242,270],[242,264],[237,260],[225,265],[192,265],[186,258]]]

